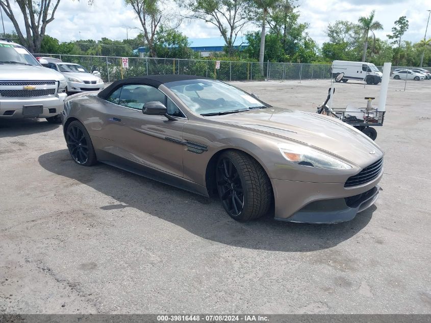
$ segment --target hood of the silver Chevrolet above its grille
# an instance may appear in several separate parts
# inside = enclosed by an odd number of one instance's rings
[[[38,65],[0,64],[0,79],[5,81],[62,81],[61,73]]]

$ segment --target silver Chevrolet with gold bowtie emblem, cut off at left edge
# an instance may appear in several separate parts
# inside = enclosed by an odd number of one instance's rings
[[[0,118],[59,123],[65,92],[61,73],[41,66],[21,45],[0,39]]]

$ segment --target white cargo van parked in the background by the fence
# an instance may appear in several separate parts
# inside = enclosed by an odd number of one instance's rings
[[[382,82],[383,73],[374,64],[365,62],[334,61],[332,62],[332,76],[344,73],[338,82],[348,80],[365,81],[367,84],[378,84]]]

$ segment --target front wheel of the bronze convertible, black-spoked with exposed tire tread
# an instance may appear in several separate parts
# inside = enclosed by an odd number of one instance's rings
[[[263,167],[249,155],[226,151],[217,161],[217,190],[233,219],[248,221],[265,215],[272,203],[272,186]]]

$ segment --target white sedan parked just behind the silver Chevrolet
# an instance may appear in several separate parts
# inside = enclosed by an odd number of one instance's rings
[[[102,79],[90,73],[84,66],[75,63],[49,63],[48,68],[59,71],[67,81],[67,94],[98,91],[105,87]],[[100,73],[99,73],[100,74]]]

